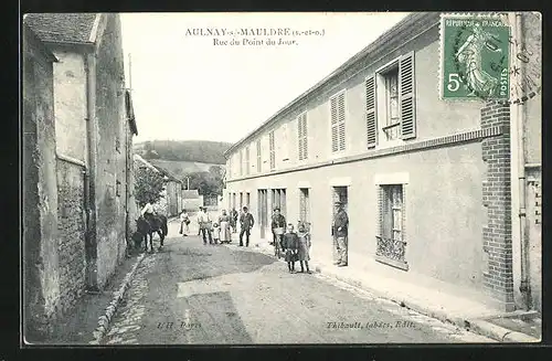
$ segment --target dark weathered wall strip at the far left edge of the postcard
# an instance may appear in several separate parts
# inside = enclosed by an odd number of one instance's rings
[[[23,28],[24,339],[41,340],[59,311],[53,55]]]

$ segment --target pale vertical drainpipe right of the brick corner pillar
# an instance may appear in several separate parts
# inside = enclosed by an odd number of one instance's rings
[[[516,38],[518,40],[523,39],[522,30],[522,14],[516,13]],[[520,77],[524,76],[524,64],[516,56],[513,57],[514,64],[520,68]],[[523,302],[528,310],[531,309],[531,285],[529,278],[529,240],[527,238],[527,206],[526,206],[526,153],[524,153],[524,132],[523,125],[526,120],[526,113],[522,104],[518,104],[516,107],[516,131],[518,132],[518,187],[519,187],[519,223],[520,223],[520,249],[521,249],[521,275],[520,275],[520,291],[523,296]]]

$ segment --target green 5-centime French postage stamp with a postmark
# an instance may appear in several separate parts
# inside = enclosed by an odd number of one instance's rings
[[[510,26],[503,17],[444,14],[442,99],[496,99],[510,94]]]

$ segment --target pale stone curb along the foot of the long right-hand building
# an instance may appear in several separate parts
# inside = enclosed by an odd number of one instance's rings
[[[256,245],[255,248],[259,249],[262,253],[270,255],[268,249],[264,249],[263,247],[261,247],[258,245]],[[272,255],[272,256],[274,256],[274,255]],[[338,279],[340,282],[359,287],[361,289],[369,290],[375,297],[391,300],[391,301],[400,305],[401,307],[406,307],[407,309],[412,309],[418,314],[438,319],[439,321],[443,321],[445,323],[455,325],[458,328],[478,333],[480,336],[488,337],[488,338],[493,339],[493,340],[499,341],[499,342],[513,342],[513,343],[516,343],[516,342],[523,342],[523,343],[541,342],[540,339],[533,338],[529,335],[512,331],[512,330],[509,330],[507,328],[490,323],[490,322],[485,321],[485,320],[470,321],[470,320],[467,320],[463,317],[455,317],[453,315],[449,315],[445,310],[436,310],[436,309],[433,309],[433,308],[427,307],[425,305],[420,305],[420,304],[413,302],[413,301],[407,300],[407,299],[399,298],[399,297],[396,297],[396,295],[393,295],[391,293],[378,290],[378,289],[374,289],[370,286],[367,286],[361,280],[352,279],[352,278],[347,277],[347,276],[343,277],[343,276],[337,275],[332,272],[325,272],[323,270],[325,267],[317,265],[317,264],[314,264],[314,263],[311,263],[310,266],[316,273],[326,275],[326,276],[333,278],[333,279]]]

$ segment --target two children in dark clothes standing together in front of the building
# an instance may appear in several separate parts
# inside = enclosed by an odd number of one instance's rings
[[[289,273],[295,273],[295,263],[297,261],[301,266],[301,273],[305,272],[305,268],[307,268],[308,274],[311,273],[309,269],[310,246],[310,233],[306,224],[300,222],[297,232],[295,232],[294,225],[288,223],[287,231],[282,237],[282,249],[285,252],[285,261]]]

